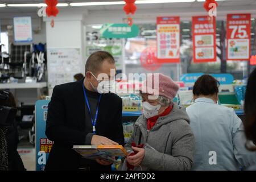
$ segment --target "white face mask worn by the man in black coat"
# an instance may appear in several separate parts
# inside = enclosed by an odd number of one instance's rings
[[[90,82],[90,85],[92,85],[92,88],[95,90],[95,92],[98,93],[115,93],[115,81],[114,80],[102,80],[99,81],[92,72],[90,72],[92,76],[98,81],[98,86],[94,86],[92,82]]]

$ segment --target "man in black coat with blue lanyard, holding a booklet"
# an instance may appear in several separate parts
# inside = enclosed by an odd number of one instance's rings
[[[99,93],[98,84],[115,70],[114,58],[94,52],[85,65],[85,78],[53,89],[48,105],[46,135],[54,142],[46,170],[110,170],[105,160],[88,160],[73,145],[124,144],[122,100],[113,93]],[[104,78],[100,75],[105,74]]]

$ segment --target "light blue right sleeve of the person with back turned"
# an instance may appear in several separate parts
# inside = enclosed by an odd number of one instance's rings
[[[243,129],[243,124],[240,118],[232,111],[232,139],[234,155],[237,162],[243,168],[248,168],[256,164],[256,152],[248,151],[245,147],[246,137]]]

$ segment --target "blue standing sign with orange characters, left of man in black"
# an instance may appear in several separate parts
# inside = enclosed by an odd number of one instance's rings
[[[36,171],[44,171],[53,142],[46,137],[46,118],[49,101],[40,100],[35,104],[35,146]]]

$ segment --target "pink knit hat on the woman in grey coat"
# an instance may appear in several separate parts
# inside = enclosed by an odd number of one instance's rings
[[[172,101],[179,90],[179,86],[175,84],[172,78],[162,73],[154,73],[147,75],[147,80],[142,83],[139,90],[150,95],[165,96]]]

